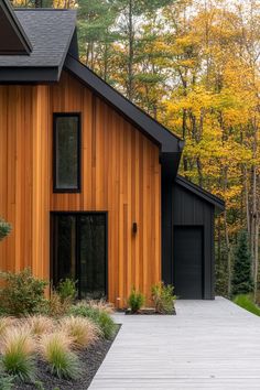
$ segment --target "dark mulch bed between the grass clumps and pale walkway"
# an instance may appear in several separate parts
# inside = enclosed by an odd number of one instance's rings
[[[17,390],[85,390],[88,389],[95,373],[100,367],[102,360],[105,359],[111,344],[113,340],[98,340],[94,346],[88,349],[77,354],[82,370],[80,376],[77,380],[64,380],[51,376],[47,365],[37,360],[36,362],[36,382],[32,383],[21,383],[15,384],[13,389]],[[39,383],[39,384],[37,384]]]

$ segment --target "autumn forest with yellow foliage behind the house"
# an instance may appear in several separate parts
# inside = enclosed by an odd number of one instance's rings
[[[217,294],[231,294],[247,231],[260,282],[260,1],[13,0],[76,8],[80,59],[185,139],[181,173],[226,201],[216,221]]]

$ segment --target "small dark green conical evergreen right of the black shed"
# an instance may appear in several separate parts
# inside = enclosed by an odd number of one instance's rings
[[[232,295],[247,294],[253,290],[251,277],[251,254],[248,245],[248,235],[245,230],[238,235],[235,249]]]

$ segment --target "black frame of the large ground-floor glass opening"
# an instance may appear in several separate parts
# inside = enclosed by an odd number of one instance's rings
[[[105,294],[108,297],[108,212],[51,212],[51,229],[50,229],[50,282],[53,284],[53,277],[54,277],[54,217],[56,215],[104,215],[105,216]],[[78,229],[78,218],[76,218],[76,229]],[[77,235],[78,238],[79,235]],[[77,242],[77,261],[79,260],[78,251],[80,250],[79,245]],[[78,269],[78,263],[77,263]],[[79,273],[78,273],[79,274]],[[80,294],[80,293],[79,293]],[[79,297],[80,299],[80,297]]]

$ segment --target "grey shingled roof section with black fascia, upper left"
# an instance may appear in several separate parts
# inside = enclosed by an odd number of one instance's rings
[[[12,13],[30,40],[32,52],[0,55],[0,82],[58,80],[75,32],[76,11],[19,9]]]

